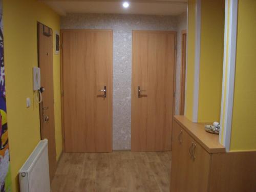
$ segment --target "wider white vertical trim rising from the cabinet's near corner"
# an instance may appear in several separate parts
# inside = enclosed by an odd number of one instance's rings
[[[227,90],[226,106],[224,117],[224,146],[226,151],[230,151],[231,126],[233,115],[233,96],[234,96],[234,75],[236,72],[237,56],[237,20],[238,20],[238,0],[230,0],[230,23],[229,23],[229,53],[227,66]]]

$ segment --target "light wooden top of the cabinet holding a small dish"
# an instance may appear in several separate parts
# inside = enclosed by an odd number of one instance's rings
[[[205,123],[193,123],[185,116],[174,116],[174,120],[208,153],[225,153],[225,147],[219,143],[219,135],[206,132]]]

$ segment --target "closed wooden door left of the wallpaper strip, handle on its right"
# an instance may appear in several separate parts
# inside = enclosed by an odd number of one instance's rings
[[[65,151],[111,152],[113,32],[61,34]]]

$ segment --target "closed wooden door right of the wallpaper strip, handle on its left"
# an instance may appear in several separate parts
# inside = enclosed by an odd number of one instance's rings
[[[170,151],[176,32],[133,31],[133,152]]]

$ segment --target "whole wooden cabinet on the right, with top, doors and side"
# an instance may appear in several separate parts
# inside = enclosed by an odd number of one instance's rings
[[[256,191],[256,152],[226,153],[204,124],[175,116],[172,148],[171,192]]]

